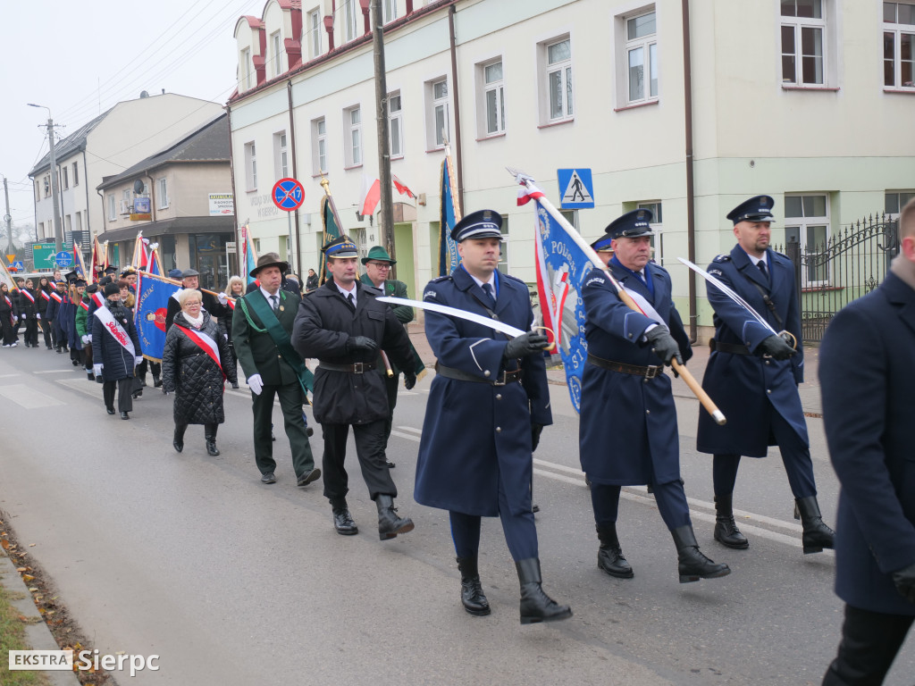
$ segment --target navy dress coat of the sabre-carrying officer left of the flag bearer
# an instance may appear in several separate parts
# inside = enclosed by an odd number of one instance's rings
[[[533,311],[527,285],[503,273],[497,279],[494,312],[502,322],[529,330]],[[486,302],[470,274],[458,268],[427,284],[423,299],[488,316],[474,296]],[[513,360],[502,360],[509,338],[490,327],[426,310],[425,337],[439,364],[481,381],[495,380],[505,364],[514,369]],[[416,461],[416,502],[495,517],[501,481],[511,514],[530,512],[532,423],[553,423],[542,355],[522,358],[522,381],[504,386],[436,374]]]

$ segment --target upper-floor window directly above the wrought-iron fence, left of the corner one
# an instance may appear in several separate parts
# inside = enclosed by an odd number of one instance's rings
[[[781,82],[825,83],[826,18],[823,0],[781,0]]]

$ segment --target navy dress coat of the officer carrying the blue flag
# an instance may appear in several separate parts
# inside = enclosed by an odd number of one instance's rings
[[[594,269],[582,287],[588,355],[612,362],[649,367],[662,361],[640,339],[651,324],[664,325],[680,346],[684,362],[693,355],[683,321],[671,299],[671,277],[654,263],[645,266],[654,285],[610,263],[610,273],[627,290],[654,307],[660,321],[631,310],[617,295],[603,270]],[[680,478],[680,445],[671,380],[666,374],[644,377],[586,363],[582,375],[578,424],[581,468],[596,484],[665,484]]]

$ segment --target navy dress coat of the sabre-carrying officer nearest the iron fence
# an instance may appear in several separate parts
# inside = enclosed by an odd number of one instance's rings
[[[719,426],[708,413],[699,413],[696,447],[701,453],[765,457],[769,446],[774,445],[770,443],[771,413],[780,413],[803,444],[810,445],[797,389],[803,381],[803,346],[794,267],[780,252],[769,249],[766,255],[770,283],[739,245],[729,255],[718,255],[707,271],[746,300],[775,331],[790,331],[798,340],[798,353],[784,360],[717,350],[709,356],[702,387],[725,413],[727,423]],[[754,284],[759,284],[769,295],[781,324]],[[763,339],[772,335],[714,285],[706,284],[705,290],[708,302],[715,309],[716,341],[747,346],[752,353]]]

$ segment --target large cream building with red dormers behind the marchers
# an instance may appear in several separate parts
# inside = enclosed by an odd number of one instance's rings
[[[316,267],[320,172],[367,249],[363,175],[379,176],[367,0],[268,0],[242,17],[231,118],[236,213],[261,252]],[[656,258],[684,319],[711,325],[705,264],[734,244],[727,212],[776,199],[776,242],[822,241],[915,193],[915,0],[383,0],[397,277],[436,276],[447,137],[465,213],[505,218],[507,270],[533,281],[533,212],[506,166],[557,207],[557,169],[587,168],[593,239],[624,211],[655,210]],[[688,23],[684,21],[688,18]],[[444,134],[443,134],[444,132]],[[301,245],[274,209],[276,179],[306,189]],[[293,231],[295,234],[295,230]]]

